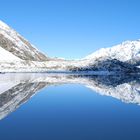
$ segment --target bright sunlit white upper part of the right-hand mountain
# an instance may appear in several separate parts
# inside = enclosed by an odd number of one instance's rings
[[[140,60],[140,40],[125,41],[111,48],[102,48],[86,56],[84,59],[100,58],[117,59],[122,62],[136,58]]]

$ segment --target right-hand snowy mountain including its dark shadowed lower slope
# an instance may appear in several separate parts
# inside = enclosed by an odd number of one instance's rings
[[[71,69],[131,71],[136,66],[140,66],[140,40],[125,41],[111,48],[102,48],[83,58],[79,65],[73,65]]]

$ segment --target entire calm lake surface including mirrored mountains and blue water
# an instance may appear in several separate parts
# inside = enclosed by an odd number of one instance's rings
[[[1,140],[139,140],[137,77],[2,74]]]

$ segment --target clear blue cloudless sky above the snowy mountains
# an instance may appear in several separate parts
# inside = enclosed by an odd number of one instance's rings
[[[139,0],[0,0],[0,19],[49,56],[140,39]]]

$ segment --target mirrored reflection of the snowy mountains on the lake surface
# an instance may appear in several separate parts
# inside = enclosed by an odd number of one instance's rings
[[[50,85],[82,84],[126,103],[140,104],[140,75],[1,74],[0,119]]]

